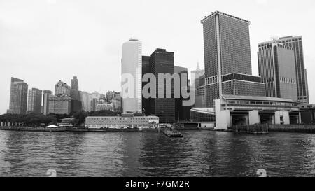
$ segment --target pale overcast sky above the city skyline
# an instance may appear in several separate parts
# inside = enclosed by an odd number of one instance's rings
[[[231,0],[0,0],[0,114],[10,99],[10,77],[29,88],[54,90],[78,76],[80,90],[120,90],[122,45],[131,36],[143,55],[174,52],[175,65],[204,68],[200,20],[215,10],[250,20],[253,74],[258,43],[303,36],[309,94],[315,103],[315,1]]]

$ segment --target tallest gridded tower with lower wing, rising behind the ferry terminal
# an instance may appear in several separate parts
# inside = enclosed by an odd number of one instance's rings
[[[265,84],[252,76],[249,24],[219,11],[201,21],[204,29],[206,106],[222,94],[265,96]]]

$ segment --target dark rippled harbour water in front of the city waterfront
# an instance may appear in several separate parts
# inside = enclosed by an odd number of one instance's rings
[[[0,176],[314,176],[315,135],[0,131]]]

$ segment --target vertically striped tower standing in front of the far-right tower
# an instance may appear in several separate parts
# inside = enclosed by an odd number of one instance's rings
[[[262,82],[266,84],[267,97],[297,101],[293,48],[280,43],[260,46],[258,66]]]

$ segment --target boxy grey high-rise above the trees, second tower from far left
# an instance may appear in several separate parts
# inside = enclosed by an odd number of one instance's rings
[[[41,113],[41,95],[42,90],[32,88],[29,90],[29,97],[27,102],[27,113]]]

